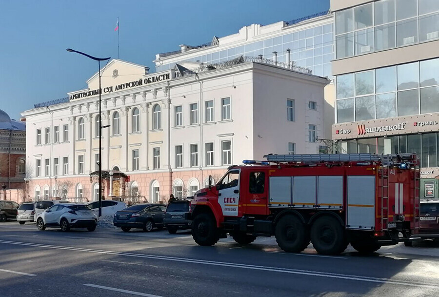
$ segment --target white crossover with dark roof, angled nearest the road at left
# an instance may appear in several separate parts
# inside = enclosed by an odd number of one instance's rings
[[[43,231],[46,227],[61,227],[67,232],[70,228],[87,228],[95,231],[98,218],[93,211],[83,204],[58,203],[40,213],[37,228]]]

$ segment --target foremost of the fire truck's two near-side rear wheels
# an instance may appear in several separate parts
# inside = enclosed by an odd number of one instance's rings
[[[286,215],[276,224],[276,242],[287,253],[300,253],[309,244],[305,225],[293,215]]]

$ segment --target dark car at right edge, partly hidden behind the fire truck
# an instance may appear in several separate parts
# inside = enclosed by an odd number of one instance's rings
[[[421,200],[419,234],[413,237],[439,240],[439,200]],[[404,244],[412,246],[413,241]]]

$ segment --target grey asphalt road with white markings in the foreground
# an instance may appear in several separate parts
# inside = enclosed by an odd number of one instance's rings
[[[417,297],[439,295],[439,245],[286,254],[273,238],[214,247],[190,233],[62,233],[0,223],[0,297]]]

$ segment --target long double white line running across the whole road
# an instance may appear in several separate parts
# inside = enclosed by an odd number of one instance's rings
[[[393,280],[393,279],[389,279],[389,278],[379,278],[379,277],[365,277],[365,276],[359,276],[359,275],[346,275],[346,274],[323,272],[323,271],[290,269],[290,268],[248,265],[248,264],[219,262],[219,261],[191,259],[191,258],[157,256],[157,255],[147,255],[147,254],[126,253],[126,252],[104,251],[104,250],[93,250],[93,249],[85,249],[85,248],[77,248],[77,247],[69,247],[69,246],[51,246],[51,245],[44,245],[44,244],[39,244],[39,243],[27,243],[27,242],[18,242],[18,241],[0,240],[0,243],[32,246],[32,247],[40,247],[40,248],[48,248],[48,249],[89,252],[89,253],[96,253],[96,254],[121,256],[121,257],[148,258],[148,259],[155,259],[155,260],[175,261],[175,262],[184,262],[184,263],[191,263],[191,264],[204,264],[204,265],[232,267],[232,268],[259,270],[259,271],[270,271],[270,272],[287,273],[287,274],[312,276],[312,277],[329,277],[329,278],[358,280],[358,281],[373,282],[373,283],[405,285],[405,286],[410,286],[410,287],[423,287],[423,288],[431,288],[431,289],[437,289],[437,290],[439,289],[439,285],[428,284],[428,283],[420,283],[420,282],[405,281],[405,280]]]

